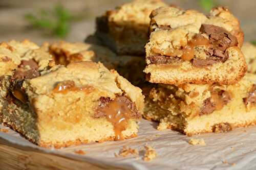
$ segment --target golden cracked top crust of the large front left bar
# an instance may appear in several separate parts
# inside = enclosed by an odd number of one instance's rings
[[[101,63],[73,62],[67,67],[58,66],[54,69],[45,75],[25,81],[23,86],[31,99],[38,95],[50,94],[59,82],[74,81],[77,87],[91,87],[111,99],[115,98],[115,94],[123,93],[136,104],[140,113],[143,111],[144,96],[141,89],[119,76],[115,70],[108,70]]]

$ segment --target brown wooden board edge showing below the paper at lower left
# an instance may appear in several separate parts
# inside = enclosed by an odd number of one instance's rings
[[[88,162],[78,161],[61,157],[53,154],[46,154],[42,151],[20,147],[9,143],[4,139],[0,139],[0,170],[42,170],[42,169],[56,169],[56,170],[70,170],[70,169],[115,169],[98,167]]]

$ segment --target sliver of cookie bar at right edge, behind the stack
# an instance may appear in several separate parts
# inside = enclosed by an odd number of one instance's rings
[[[242,52],[247,63],[248,72],[256,74],[256,46],[245,42],[242,46]]]

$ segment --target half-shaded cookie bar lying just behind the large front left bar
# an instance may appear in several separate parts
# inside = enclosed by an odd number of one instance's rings
[[[49,45],[55,64],[67,65],[73,61],[101,62],[108,69],[115,69],[133,85],[145,82],[145,60],[140,56],[118,56],[109,48],[97,44],[59,41]]]

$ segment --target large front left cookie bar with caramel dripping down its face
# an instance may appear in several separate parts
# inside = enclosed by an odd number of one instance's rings
[[[41,147],[134,137],[144,106],[138,87],[94,62],[54,66],[32,79],[7,76],[1,88],[1,122]]]

